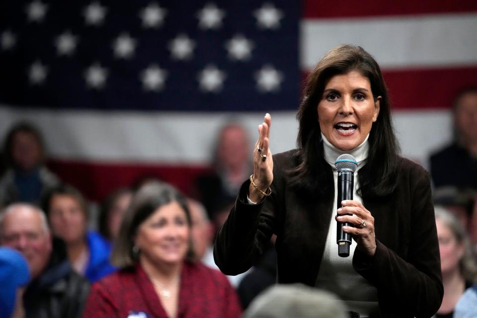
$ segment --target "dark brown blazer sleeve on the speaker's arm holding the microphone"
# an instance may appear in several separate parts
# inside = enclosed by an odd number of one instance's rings
[[[442,286],[439,243],[429,174],[419,167],[411,184],[411,224],[407,257],[379,240],[372,258],[355,251],[353,267],[378,289],[381,315],[431,317],[439,309]],[[383,312],[388,311],[389,312]],[[395,316],[389,316],[395,317]]]

